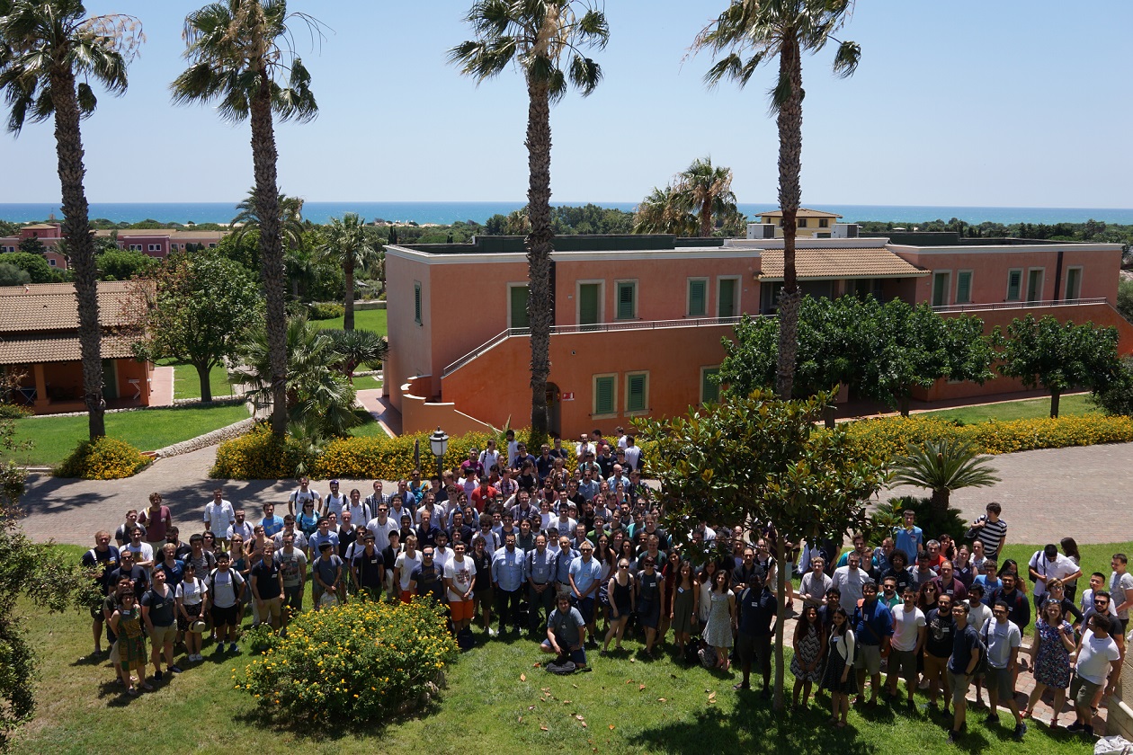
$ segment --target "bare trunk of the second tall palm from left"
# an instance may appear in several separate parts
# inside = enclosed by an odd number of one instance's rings
[[[269,363],[272,377],[272,432],[287,434],[287,310],[283,241],[280,238],[279,190],[275,185],[275,128],[272,123],[271,79],[261,71],[252,98],[252,162],[259,214],[259,267],[264,278]]]

